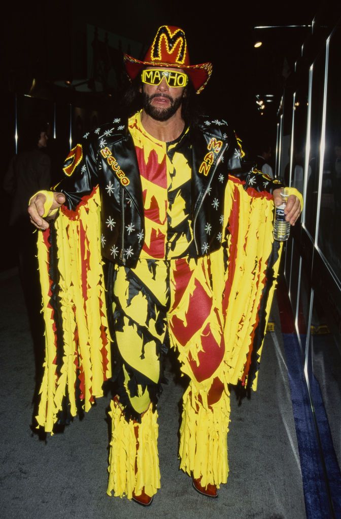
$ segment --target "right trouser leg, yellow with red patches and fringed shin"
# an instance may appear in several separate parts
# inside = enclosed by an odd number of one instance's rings
[[[214,291],[205,258],[175,261],[170,276],[170,344],[190,377],[183,395],[180,468],[195,479],[201,477],[202,486],[219,487],[228,477],[230,420],[221,297]]]

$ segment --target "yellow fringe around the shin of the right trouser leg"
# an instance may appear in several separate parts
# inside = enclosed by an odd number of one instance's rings
[[[230,421],[230,397],[223,393],[212,407],[204,407],[199,394],[189,387],[183,395],[183,412],[180,427],[180,469],[201,485],[219,485],[227,482],[227,433]]]

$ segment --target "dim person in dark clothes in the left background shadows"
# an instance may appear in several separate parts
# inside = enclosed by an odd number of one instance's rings
[[[46,152],[48,125],[45,120],[35,119],[20,131],[18,155],[12,157],[4,178],[4,189],[12,196],[9,226],[16,237],[14,250],[18,254],[19,275],[30,321],[35,356],[35,378],[40,383],[44,360],[39,294],[36,236],[27,217],[27,200],[37,190],[49,189],[51,185],[51,162]]]

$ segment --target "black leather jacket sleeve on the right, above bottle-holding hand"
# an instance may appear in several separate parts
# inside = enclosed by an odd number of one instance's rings
[[[233,176],[236,176],[244,184],[244,189],[252,187],[259,193],[266,191],[272,195],[274,189],[284,187],[277,179],[271,179],[271,177],[265,173],[262,173],[255,168],[252,162],[245,160],[245,153],[242,148],[242,141],[233,132],[231,134],[231,145],[230,149],[234,151],[228,162],[229,171]]]

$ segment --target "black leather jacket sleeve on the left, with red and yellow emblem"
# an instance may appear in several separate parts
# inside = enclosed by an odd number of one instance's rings
[[[85,139],[76,144],[64,161],[62,180],[53,190],[66,197],[65,206],[75,211],[84,196],[88,196],[98,184],[98,152]]]

